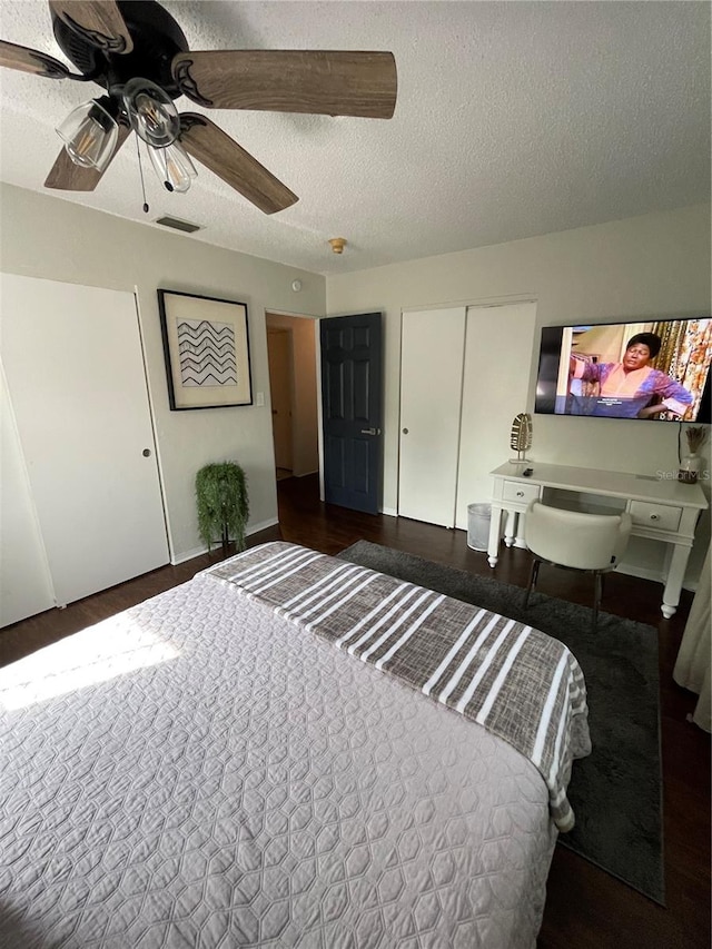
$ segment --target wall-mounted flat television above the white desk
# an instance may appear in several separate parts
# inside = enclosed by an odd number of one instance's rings
[[[546,326],[535,412],[710,423],[712,318]]]

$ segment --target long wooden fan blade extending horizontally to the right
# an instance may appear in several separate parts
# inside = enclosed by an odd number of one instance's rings
[[[171,70],[184,95],[211,109],[389,119],[398,85],[390,52],[179,52]]]

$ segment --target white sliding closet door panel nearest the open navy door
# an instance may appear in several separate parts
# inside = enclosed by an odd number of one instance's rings
[[[403,314],[398,514],[452,527],[465,307]]]

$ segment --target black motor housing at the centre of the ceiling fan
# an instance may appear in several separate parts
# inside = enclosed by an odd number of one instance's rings
[[[182,92],[170,65],[177,53],[188,50],[182,30],[156,0],[119,0],[118,7],[134,41],[131,52],[101,49],[96,38],[85,38],[81,28],[71,28],[52,13],[55,38],[60,48],[80,72],[91,76],[109,92],[140,76],[177,99]]]

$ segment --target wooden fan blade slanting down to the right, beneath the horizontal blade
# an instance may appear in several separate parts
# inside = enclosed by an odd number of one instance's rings
[[[281,211],[299,200],[286,185],[205,116],[182,112],[179,140],[192,158],[227,181],[266,215]]]

